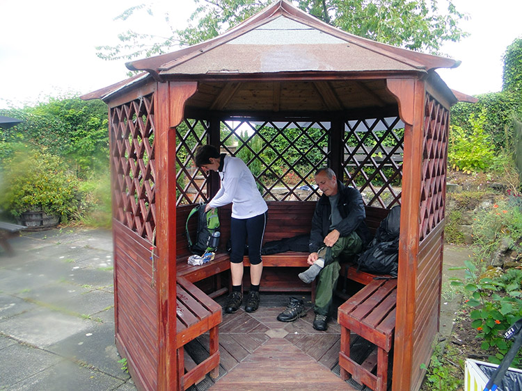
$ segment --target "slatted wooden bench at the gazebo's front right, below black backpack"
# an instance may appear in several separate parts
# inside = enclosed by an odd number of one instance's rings
[[[388,388],[388,357],[393,348],[397,280],[372,280],[338,310],[341,326],[340,375],[367,385],[374,391]],[[375,345],[363,361],[350,358],[350,332]]]

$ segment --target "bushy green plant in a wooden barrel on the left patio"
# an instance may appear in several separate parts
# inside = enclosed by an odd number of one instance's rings
[[[3,167],[0,206],[19,224],[50,228],[76,210],[76,178],[58,156],[46,151],[17,151]]]

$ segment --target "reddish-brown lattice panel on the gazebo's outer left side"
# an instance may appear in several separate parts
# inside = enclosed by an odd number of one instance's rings
[[[142,238],[154,242],[154,96],[111,108],[113,216]]]

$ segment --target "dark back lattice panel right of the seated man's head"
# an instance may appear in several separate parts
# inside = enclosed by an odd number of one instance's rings
[[[400,204],[404,124],[399,117],[345,123],[345,182],[363,193],[367,206]]]

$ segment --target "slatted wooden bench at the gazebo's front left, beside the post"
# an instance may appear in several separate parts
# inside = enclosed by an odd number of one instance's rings
[[[207,373],[212,378],[219,376],[219,324],[221,306],[186,278],[177,277],[177,373],[179,389],[186,390],[202,380]],[[209,357],[196,364],[184,354],[184,345],[209,331]]]

